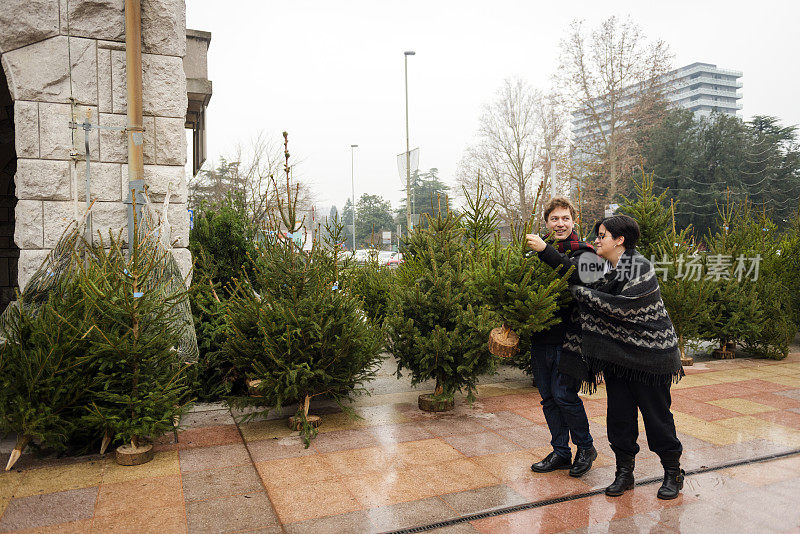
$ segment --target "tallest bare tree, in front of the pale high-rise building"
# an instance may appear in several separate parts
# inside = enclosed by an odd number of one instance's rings
[[[594,178],[586,187],[602,203],[625,192],[639,163],[642,135],[662,115],[671,59],[667,44],[648,41],[630,18],[610,17],[588,35],[575,21],[561,42],[556,81],[579,129],[581,173]]]

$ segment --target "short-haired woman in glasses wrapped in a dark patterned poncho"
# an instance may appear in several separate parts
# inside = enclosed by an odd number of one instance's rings
[[[684,479],[683,447],[670,412],[670,386],[683,376],[675,330],[653,266],[636,252],[640,234],[636,220],[608,217],[595,225],[595,234],[597,254],[611,269],[597,282],[571,287],[578,315],[568,337],[576,341],[569,348],[588,367],[588,385],[592,387],[600,373],[605,378],[608,440],[617,461],[606,495],[616,497],[633,488],[638,409],[650,450],[664,466],[658,497],[674,499]],[[548,246],[538,236],[528,236],[528,243],[537,251]]]

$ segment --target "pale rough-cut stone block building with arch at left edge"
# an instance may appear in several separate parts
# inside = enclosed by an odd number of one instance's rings
[[[183,0],[142,0],[144,179],[151,200],[170,191],[173,250],[188,272],[186,130],[195,172],[204,159],[211,95],[210,34],[189,31],[187,95]],[[24,287],[71,221],[85,211],[86,119],[95,234],[127,235],[128,196],[124,0],[0,2],[0,305]],[[187,117],[187,110],[191,109]],[[2,309],[0,308],[0,309]]]

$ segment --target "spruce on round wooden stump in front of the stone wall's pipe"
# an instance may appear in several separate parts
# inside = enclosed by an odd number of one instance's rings
[[[90,317],[87,371],[101,384],[84,420],[134,449],[171,430],[183,410],[186,365],[176,347],[193,328],[171,253],[136,225],[130,254],[109,236],[87,249],[77,277]]]

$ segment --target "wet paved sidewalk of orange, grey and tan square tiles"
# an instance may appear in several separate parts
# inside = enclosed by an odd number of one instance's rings
[[[673,389],[687,470],[800,449],[800,354],[774,362],[698,363]],[[121,467],[93,457],[36,462],[0,474],[0,532],[383,532],[576,495],[613,479],[605,391],[585,398],[600,455],[581,479],[537,475],[550,451],[530,381],[479,387],[472,406],[446,414],[416,407],[419,392],[376,394],[350,420],[323,416],[309,449],[284,420],[237,427],[228,410],[184,417],[177,445]],[[313,410],[312,410],[313,411]],[[244,438],[244,439],[242,439]],[[640,437],[636,476],[660,477]],[[4,458],[0,460],[5,461]],[[681,497],[658,484],[623,497],[584,497],[459,522],[436,532],[795,531],[800,455],[687,478]],[[792,530],[794,529],[794,530]]]

